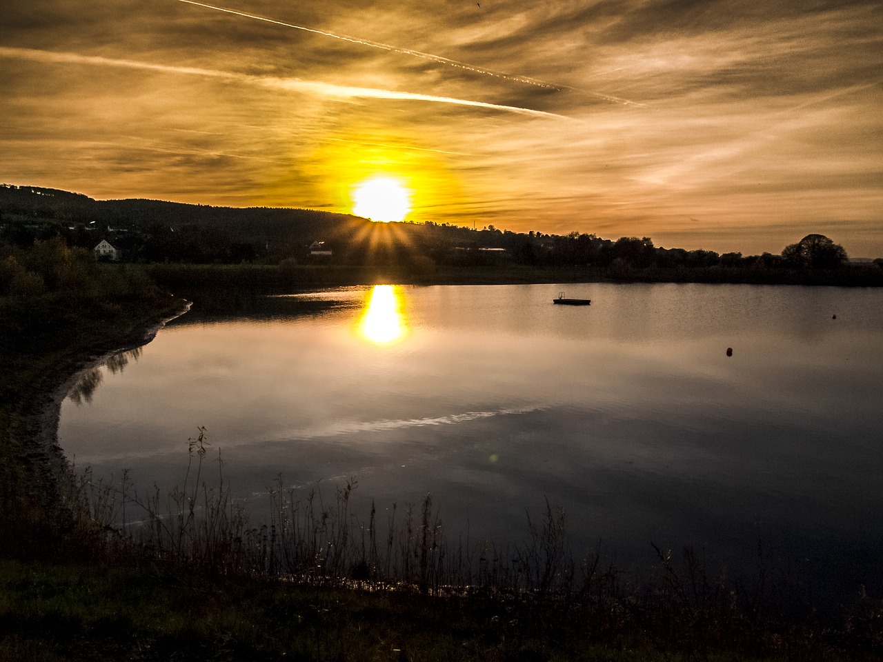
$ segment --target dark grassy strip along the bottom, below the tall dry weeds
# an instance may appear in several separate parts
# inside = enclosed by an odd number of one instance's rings
[[[42,660],[871,660],[820,628],[666,626],[622,603],[525,602],[315,589],[160,568],[0,561],[0,656]],[[819,636],[821,635],[821,636]],[[857,638],[854,643],[859,643]]]

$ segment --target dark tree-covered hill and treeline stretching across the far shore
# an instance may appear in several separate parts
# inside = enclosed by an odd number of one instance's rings
[[[488,225],[374,223],[313,209],[209,207],[0,184],[0,249],[61,237],[92,250],[106,239],[127,262],[405,267],[576,267],[583,277],[644,282],[883,285],[883,260],[850,263],[840,244],[807,234],[776,252],[662,248],[650,237],[517,233]],[[489,267],[489,268],[486,268]]]

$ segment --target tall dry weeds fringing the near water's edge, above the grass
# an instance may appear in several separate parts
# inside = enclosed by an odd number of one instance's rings
[[[509,637],[526,628],[547,643],[557,637],[555,645],[576,638],[690,651],[696,659],[712,651],[808,660],[864,660],[883,652],[883,603],[860,595],[834,620],[810,607],[786,616],[770,597],[759,553],[756,577],[734,581],[712,572],[690,548],[680,559],[657,548],[651,575],[638,580],[603,563],[599,549],[575,556],[564,512],[548,503],[539,518],[527,516],[522,543],[500,547],[449,535],[428,494],[394,506],[382,521],[373,502],[359,516],[355,478],[326,499],[319,490],[303,497],[279,476],[268,490],[266,519],[256,524],[233,499],[220,452],[214,461],[208,454],[200,428],[188,440],[183,484],[170,493],[139,493],[126,472],[113,481],[88,469],[72,472],[64,508],[73,531],[91,541],[93,553],[158,563],[200,581],[246,578],[317,591],[426,596],[446,609],[461,606],[473,620],[494,614],[482,627]]]

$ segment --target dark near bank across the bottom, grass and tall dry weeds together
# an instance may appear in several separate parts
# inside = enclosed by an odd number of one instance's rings
[[[464,560],[429,500],[389,535],[349,515],[349,488],[312,505],[276,493],[277,515],[253,525],[223,482],[191,469],[168,497],[126,493],[147,515],[125,530],[104,524],[117,487],[72,483],[75,526],[59,555],[0,556],[0,658],[864,662],[883,652],[883,606],[870,598],[836,616],[784,616],[762,578],[728,582],[689,551],[660,552],[651,576],[627,582],[597,558],[574,563],[551,509],[513,555],[479,545]]]

